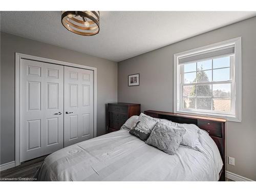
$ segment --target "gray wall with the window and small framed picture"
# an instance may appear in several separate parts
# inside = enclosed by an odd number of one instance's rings
[[[175,27],[175,26],[174,26]],[[141,103],[141,111],[173,111],[173,54],[242,36],[242,123],[227,122],[227,170],[256,180],[256,17],[118,62],[118,101]],[[154,37],[153,37],[154,38]],[[127,75],[140,73],[140,86]]]

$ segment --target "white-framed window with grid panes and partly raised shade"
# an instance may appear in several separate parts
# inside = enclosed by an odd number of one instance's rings
[[[241,37],[174,54],[174,112],[241,122]]]

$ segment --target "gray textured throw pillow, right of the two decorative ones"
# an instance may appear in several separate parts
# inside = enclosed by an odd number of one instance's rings
[[[185,133],[185,129],[160,122],[156,124],[145,143],[155,146],[169,155],[174,155]]]

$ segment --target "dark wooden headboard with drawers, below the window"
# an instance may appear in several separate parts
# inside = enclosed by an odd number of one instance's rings
[[[209,136],[216,143],[221,158],[223,161],[223,167],[220,172],[219,181],[225,181],[225,124],[226,119],[221,118],[211,118],[211,117],[203,117],[203,116],[195,116],[195,115],[185,115],[179,113],[169,113],[162,111],[153,111],[148,110],[145,111],[145,114],[151,117],[167,119],[177,123],[187,123],[187,124],[195,124],[200,129],[203,129],[209,133]]]

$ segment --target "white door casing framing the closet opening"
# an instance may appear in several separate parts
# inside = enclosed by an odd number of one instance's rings
[[[69,67],[75,67],[75,68],[81,68],[81,69],[87,69],[93,71],[94,76],[94,103],[93,103],[93,114],[94,114],[94,121],[93,121],[93,137],[97,136],[97,68],[90,67],[90,66],[83,66],[78,65],[70,62],[64,62],[54,59],[48,59],[43,57],[37,57],[33,55],[27,55],[22,53],[15,53],[15,166],[20,165],[20,133],[19,133],[19,86],[20,86],[20,59],[31,59],[36,61],[42,61],[42,62],[49,62],[56,65],[62,65],[62,66],[69,66]]]

